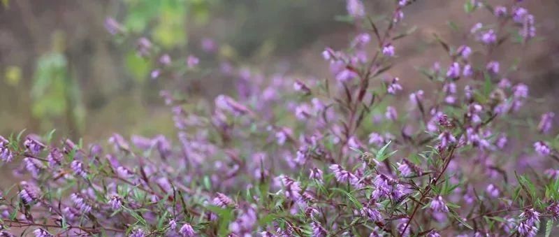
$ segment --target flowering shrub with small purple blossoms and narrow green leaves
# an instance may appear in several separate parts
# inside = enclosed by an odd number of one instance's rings
[[[239,77],[236,96],[209,104],[161,92],[175,139],[1,138],[0,158],[20,161],[25,180],[3,190],[1,235],[549,236],[559,171],[532,164],[559,161],[554,115],[521,122],[533,115],[523,109],[528,86],[505,78],[518,66],[493,53],[528,47],[535,17],[521,1],[467,1],[467,13],[486,9],[495,22],[474,24],[458,47],[437,36],[442,61],[419,70],[435,89],[406,96],[408,79],[389,74],[412,3],[373,21],[348,0],[359,32],[347,49],[322,52],[331,78],[266,78],[224,62],[222,73]],[[173,60],[148,38],[137,48],[159,59],[156,80],[203,65]]]

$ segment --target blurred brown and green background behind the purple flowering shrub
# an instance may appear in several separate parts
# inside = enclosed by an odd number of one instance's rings
[[[372,15],[394,4],[364,2]],[[422,0],[406,8],[404,22],[417,30],[396,44],[398,66],[391,71],[405,92],[427,82],[410,69],[428,67],[444,53],[433,33],[459,45],[463,35],[453,27],[467,31],[493,17],[467,16],[464,3]],[[498,55],[521,57],[522,73],[509,79],[530,85],[532,96],[549,99],[535,109],[557,113],[559,1],[524,5],[536,17],[537,42],[528,52],[518,48]],[[157,62],[138,57],[136,39],[149,38],[173,59],[196,55],[207,69],[231,62],[263,75],[325,78],[328,64],[321,51],[344,48],[358,33],[345,15],[343,0],[0,0],[0,134],[57,129],[59,136],[86,143],[114,132],[172,134],[169,108],[159,96],[168,82],[150,76]],[[109,34],[107,17],[134,41]],[[180,80],[189,96],[212,99],[234,94],[230,88],[238,77],[209,71]]]

